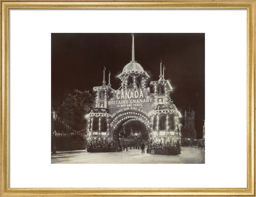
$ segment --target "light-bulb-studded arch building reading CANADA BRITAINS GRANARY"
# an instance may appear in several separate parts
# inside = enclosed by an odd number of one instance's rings
[[[119,143],[119,132],[125,122],[139,120],[148,129],[150,141],[173,142],[180,147],[181,113],[171,99],[173,88],[164,78],[165,67],[161,62],[159,80],[149,81],[148,73],[135,61],[133,34],[131,59],[117,76],[121,80],[119,89],[111,88],[110,72],[106,84],[105,67],[102,85],[93,87],[97,98],[94,108],[86,115],[87,142],[114,140]],[[150,92],[150,86],[153,92]]]

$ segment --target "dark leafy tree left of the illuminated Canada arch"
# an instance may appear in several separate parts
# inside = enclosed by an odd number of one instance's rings
[[[89,91],[75,89],[58,107],[57,114],[74,129],[83,129],[86,126],[85,115],[91,111],[94,99],[95,95]]]

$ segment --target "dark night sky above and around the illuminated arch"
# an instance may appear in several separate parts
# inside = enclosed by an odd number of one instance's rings
[[[111,85],[131,60],[131,34],[52,34],[52,108],[57,109],[73,90],[91,90],[102,85],[103,65],[111,71]],[[165,64],[165,79],[174,88],[172,99],[182,116],[195,110],[199,138],[205,119],[204,34],[134,34],[135,60],[159,79],[159,64]],[[107,80],[108,81],[108,78]],[[182,124],[184,120],[182,118]]]

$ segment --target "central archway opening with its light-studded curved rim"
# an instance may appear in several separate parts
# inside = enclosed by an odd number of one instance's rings
[[[119,145],[137,148],[150,138],[149,118],[142,112],[127,111],[116,114],[111,122],[114,141]]]

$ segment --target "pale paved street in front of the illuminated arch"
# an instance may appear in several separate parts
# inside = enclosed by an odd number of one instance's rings
[[[57,151],[52,163],[204,163],[204,151],[196,147],[182,147],[179,155],[141,153],[138,149],[126,152],[88,153],[85,150]]]

